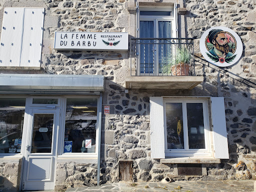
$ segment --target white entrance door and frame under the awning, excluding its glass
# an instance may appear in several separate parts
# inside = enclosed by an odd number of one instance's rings
[[[43,97],[43,98],[53,98]],[[50,190],[54,189],[54,177],[55,177],[55,165],[57,156],[57,141],[59,134],[59,116],[60,116],[60,99],[58,98],[58,104],[32,104],[33,96],[27,97],[26,109],[24,115],[24,129],[22,135],[22,155],[24,156],[24,165],[22,170],[21,179],[21,189],[24,190]],[[42,98],[42,97],[40,97]],[[33,130],[33,115],[34,114],[54,114],[53,130],[52,130],[52,142],[51,142],[51,152],[50,153],[30,153],[31,141],[32,141],[32,130]],[[44,159],[45,164],[50,164],[50,168],[47,172],[48,176],[45,175],[46,179],[29,179],[29,162],[34,161],[35,167],[43,169],[43,166],[37,166],[40,159]],[[46,161],[48,161],[46,163]],[[36,165],[37,163],[37,165]],[[48,165],[47,164],[47,165]],[[41,165],[41,164],[40,164]]]

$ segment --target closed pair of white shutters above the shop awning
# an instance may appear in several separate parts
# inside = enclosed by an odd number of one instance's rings
[[[44,8],[6,7],[0,66],[40,67]]]

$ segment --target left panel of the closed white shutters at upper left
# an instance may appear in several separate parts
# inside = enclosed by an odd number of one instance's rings
[[[1,28],[0,66],[19,66],[24,8],[4,8]]]

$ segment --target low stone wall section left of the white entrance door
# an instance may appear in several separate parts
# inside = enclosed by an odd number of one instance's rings
[[[0,159],[0,191],[17,191],[22,158]]]

